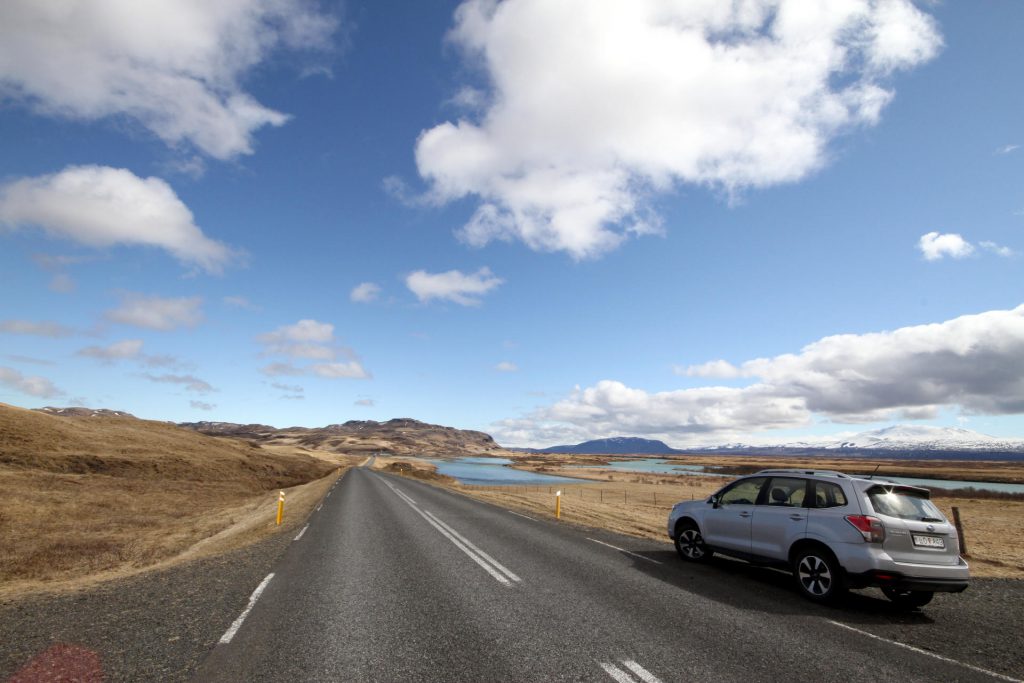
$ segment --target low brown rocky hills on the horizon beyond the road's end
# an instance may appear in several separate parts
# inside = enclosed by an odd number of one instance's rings
[[[509,453],[483,432],[432,425],[410,418],[387,422],[351,420],[326,427],[237,425],[227,422],[185,422],[181,427],[211,435],[229,435],[254,443],[317,449],[343,455],[367,456],[507,456]]]

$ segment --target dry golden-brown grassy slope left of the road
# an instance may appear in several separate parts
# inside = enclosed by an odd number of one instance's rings
[[[352,459],[133,418],[0,404],[0,597],[62,590],[289,529]]]

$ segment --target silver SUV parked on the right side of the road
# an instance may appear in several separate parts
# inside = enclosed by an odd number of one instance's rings
[[[967,589],[956,529],[927,488],[821,470],[763,470],[707,501],[678,503],[669,536],[692,562],[714,553],[788,568],[799,591],[831,602],[878,586],[900,605]]]

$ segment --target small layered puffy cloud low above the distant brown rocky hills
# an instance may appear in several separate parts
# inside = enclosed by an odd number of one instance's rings
[[[305,367],[291,362],[272,362],[260,369],[264,375],[299,376],[315,375],[328,379],[367,379],[370,373],[362,367],[352,349],[335,342],[334,326],[313,319],[301,319],[294,325],[284,325],[273,332],[260,335],[263,355],[283,355],[293,359],[319,360]],[[337,361],[346,356],[347,362]]]

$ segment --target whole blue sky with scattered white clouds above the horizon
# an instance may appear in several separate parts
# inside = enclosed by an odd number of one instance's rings
[[[0,401],[1024,436],[1024,7],[812,9],[5,3]]]

